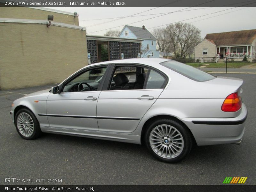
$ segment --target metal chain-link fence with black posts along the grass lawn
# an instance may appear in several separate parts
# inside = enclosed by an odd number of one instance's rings
[[[228,73],[229,68],[240,68],[246,65],[256,63],[256,57],[244,56],[244,57],[193,57],[193,58],[175,58],[173,60],[185,63],[192,67],[204,70],[206,72],[215,71]],[[218,70],[216,70],[218,68]]]

